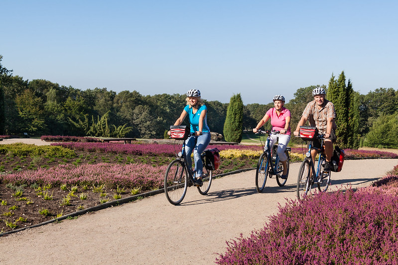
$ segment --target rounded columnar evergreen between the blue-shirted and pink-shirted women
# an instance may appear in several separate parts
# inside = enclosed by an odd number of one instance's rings
[[[238,142],[242,140],[243,134],[243,102],[241,94],[231,97],[227,108],[227,117],[224,123],[224,138],[227,142]]]

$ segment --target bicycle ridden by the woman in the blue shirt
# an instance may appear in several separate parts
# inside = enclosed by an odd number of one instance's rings
[[[194,133],[189,133],[193,136]],[[210,189],[213,171],[205,167],[206,150],[202,152],[200,158],[203,162],[202,186],[197,186],[200,194],[205,195]],[[187,192],[187,188],[195,185],[196,171],[191,171],[187,166],[187,158],[185,156],[185,141],[182,143],[182,149],[176,154],[177,159],[172,161],[164,175],[164,193],[167,200],[174,205],[181,203]]]

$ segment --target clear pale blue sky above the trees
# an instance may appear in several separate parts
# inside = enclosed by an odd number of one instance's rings
[[[142,95],[287,101],[345,72],[398,89],[398,1],[2,0],[2,66],[24,80]]]

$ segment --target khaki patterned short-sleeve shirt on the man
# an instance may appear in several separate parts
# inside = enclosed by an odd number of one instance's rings
[[[336,110],[329,100],[325,99],[321,109],[318,108],[315,100],[309,102],[303,111],[303,116],[308,119],[309,125],[318,128],[319,132],[325,133],[327,119],[336,119]],[[336,129],[335,120],[333,120],[332,129]]]

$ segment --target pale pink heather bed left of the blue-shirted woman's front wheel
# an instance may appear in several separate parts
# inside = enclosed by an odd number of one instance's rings
[[[50,169],[21,171],[1,176],[3,181],[11,183],[60,184],[109,184],[126,187],[140,187],[142,190],[159,187],[163,184],[167,166],[146,164],[95,164],[95,165],[59,165]]]

